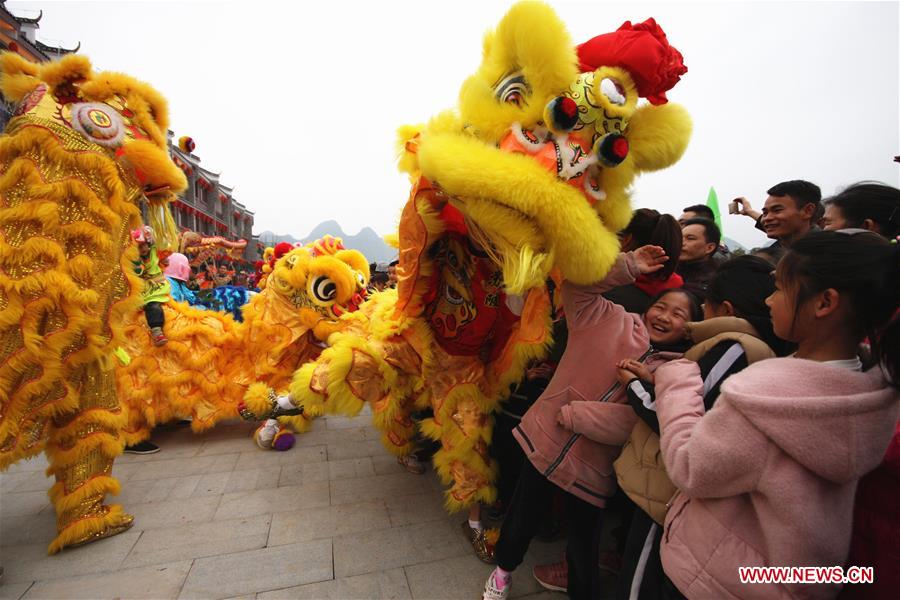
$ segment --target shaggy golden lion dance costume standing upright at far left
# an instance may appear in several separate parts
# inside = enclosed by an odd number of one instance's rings
[[[0,91],[18,103],[0,137],[0,468],[46,451],[52,554],[133,521],[103,503],[124,443],[112,356],[142,285],[129,232],[142,199],[158,216],[186,181],[144,83],[6,53]]]

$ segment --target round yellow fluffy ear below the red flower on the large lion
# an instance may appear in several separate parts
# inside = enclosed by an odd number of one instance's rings
[[[693,124],[683,106],[646,104],[628,121],[628,145],[640,171],[665,169],[681,158],[691,139]]]

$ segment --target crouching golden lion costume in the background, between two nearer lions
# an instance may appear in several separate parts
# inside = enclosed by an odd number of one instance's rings
[[[169,342],[154,346],[143,313],[133,312],[123,344],[132,360],[117,369],[126,442],[145,440],[157,423],[176,418],[190,418],[194,431],[204,431],[239,418],[248,393],[285,393],[294,371],[318,357],[324,340],[342,326],[339,317],[358,309],[368,280],[365,256],[326,236],[274,263],[268,285],[244,306],[241,323],[170,301],[163,304]],[[282,420],[293,429],[308,427],[302,414]],[[271,438],[274,423],[268,425]],[[274,440],[260,439],[261,433],[257,442],[271,447]]]

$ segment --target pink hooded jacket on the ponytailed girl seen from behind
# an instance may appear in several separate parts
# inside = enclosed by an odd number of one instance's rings
[[[696,363],[656,372],[663,459],[680,490],[666,575],[692,599],[833,598],[840,585],[741,584],[738,567],[844,566],[856,484],[884,455],[900,394],[879,369],[797,358],[750,365],[721,389],[704,415]]]

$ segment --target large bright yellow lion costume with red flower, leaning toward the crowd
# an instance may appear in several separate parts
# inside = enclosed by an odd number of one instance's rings
[[[617,52],[627,55],[627,44],[613,43],[597,64],[583,50],[612,41],[603,36],[576,52],[544,4],[510,9],[485,37],[458,110],[400,130],[413,187],[397,289],[350,315],[291,384],[289,400],[307,416],[355,414],[369,402],[399,455],[412,450],[411,412],[430,407],[421,429],[441,442],[434,463],[451,485],[450,510],[495,499],[491,413],[551,341],[545,281],[601,280],[631,218],[634,178],[687,146],[690,118],[664,93],[685,71],[680,54],[652,19],[633,29],[658,46],[643,57],[648,69],[626,68],[632,61]],[[638,106],[639,96],[652,104]],[[256,400],[248,411],[268,414],[271,403]]]

